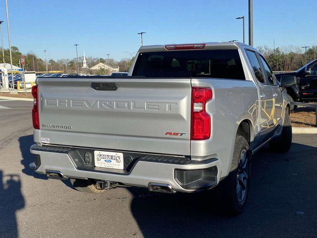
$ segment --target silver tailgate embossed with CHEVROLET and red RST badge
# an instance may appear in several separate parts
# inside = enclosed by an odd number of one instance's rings
[[[36,142],[190,154],[190,78],[39,78],[38,85]]]

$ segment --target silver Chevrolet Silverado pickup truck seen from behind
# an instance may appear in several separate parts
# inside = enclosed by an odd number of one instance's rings
[[[261,53],[241,43],[143,46],[129,76],[40,77],[30,168],[79,191],[174,193],[217,186],[244,208],[251,156],[287,152],[290,103]]]

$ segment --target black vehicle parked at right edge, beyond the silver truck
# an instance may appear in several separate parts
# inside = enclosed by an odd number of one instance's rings
[[[292,73],[275,74],[280,82],[282,77],[295,77],[296,84],[286,88],[288,95],[296,102],[317,102],[317,60],[313,60]]]

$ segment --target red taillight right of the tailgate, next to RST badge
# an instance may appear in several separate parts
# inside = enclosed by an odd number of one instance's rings
[[[211,117],[206,112],[206,102],[211,99],[211,88],[192,88],[191,140],[206,140],[211,136]]]

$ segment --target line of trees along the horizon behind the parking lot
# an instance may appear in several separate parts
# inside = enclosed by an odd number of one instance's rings
[[[297,70],[307,62],[315,60],[317,58],[317,46],[312,46],[311,48],[307,49],[307,55],[303,51],[301,47],[278,47],[276,49],[270,49],[267,46],[261,46],[257,48],[265,57],[269,65],[271,66],[273,71],[293,71]],[[2,49],[0,51],[2,53]],[[15,46],[11,47],[12,53],[12,63],[13,65],[20,66],[20,59],[22,53],[19,49]],[[1,55],[1,54],[0,54]],[[46,71],[46,63],[45,59],[41,59],[36,56],[33,52],[29,52],[24,54],[25,58],[25,71]],[[124,58],[121,60],[113,60],[104,58],[97,58],[97,57],[87,57],[87,64],[89,67],[96,65],[99,62],[102,63],[109,63],[112,67],[119,66],[120,71],[128,71],[129,67],[131,66],[132,59]],[[4,61],[9,63],[10,62],[10,54],[9,49],[4,49]],[[76,58],[74,59],[59,59],[53,60],[48,59],[48,70],[49,71],[56,71],[61,70],[65,73],[74,73],[76,72]],[[83,57],[78,58],[79,68],[82,66]],[[0,62],[2,63],[2,57],[0,57]],[[103,69],[98,74],[105,74]]]

